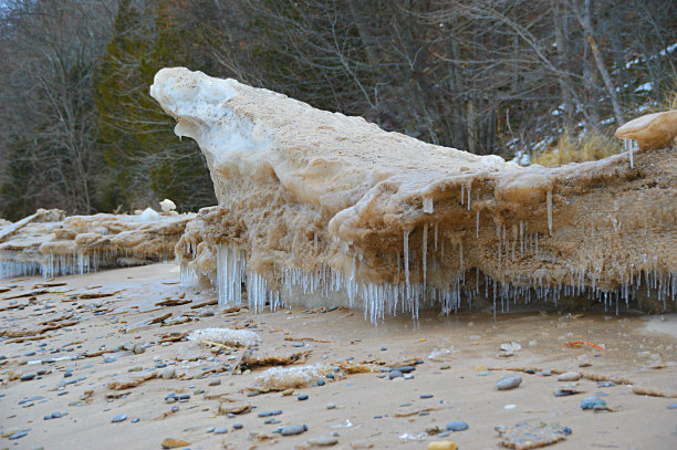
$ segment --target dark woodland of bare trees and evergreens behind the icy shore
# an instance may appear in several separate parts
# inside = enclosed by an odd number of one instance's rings
[[[0,216],[216,200],[148,96],[184,65],[475,154],[608,136],[674,102],[671,0],[10,0]]]

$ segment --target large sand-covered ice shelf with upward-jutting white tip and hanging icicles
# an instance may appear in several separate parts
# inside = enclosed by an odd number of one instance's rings
[[[519,167],[183,67],[150,94],[209,165],[219,206],[177,254],[220,304],[345,303],[374,322],[537,300],[674,307],[675,147],[634,169]]]

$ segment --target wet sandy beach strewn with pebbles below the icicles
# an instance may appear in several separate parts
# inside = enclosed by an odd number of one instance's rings
[[[247,310],[222,313],[215,305],[191,308],[213,301],[216,294],[181,286],[178,280],[176,265],[156,264],[50,282],[64,285],[41,286],[45,284],[41,278],[0,281],[0,334],[4,334],[0,355],[6,356],[0,360],[0,431],[12,427],[28,430],[19,439],[0,439],[0,448],[159,449],[165,438],[175,438],[189,442],[186,447],[190,449],[292,449],[311,448],[306,446],[310,439],[337,433],[333,448],[340,449],[425,449],[435,440],[452,440],[464,450],[492,449],[499,448],[494,427],[521,421],[570,427],[572,433],[553,449],[677,448],[677,409],[667,409],[677,402],[677,398],[669,398],[677,395],[675,315],[529,312],[494,320],[491,313],[462,312],[445,317],[430,311],[417,322],[389,317],[374,326],[361,311],[345,308],[294,307],[261,314]],[[93,293],[112,295],[87,299],[86,294]],[[156,306],[167,299],[190,303]],[[171,314],[168,321],[185,317],[188,322],[147,324],[167,314]],[[54,328],[46,329],[50,327]],[[192,342],[158,343],[171,333],[207,327],[247,327],[260,335],[262,347],[269,350],[310,352],[303,364],[350,362],[376,371],[326,379],[324,386],[295,389],[290,396],[265,393],[249,397],[247,388],[254,386],[264,367],[199,378],[225,364],[235,366],[241,349],[212,354]],[[17,342],[25,331],[38,333],[24,338],[39,338]],[[8,337],[8,332],[13,337]],[[564,345],[574,341],[603,345],[604,352],[587,345]],[[114,352],[125,342],[147,346],[140,354]],[[513,356],[501,356],[500,344],[512,342],[521,349]],[[97,356],[92,356],[94,353]],[[58,360],[46,363],[50,358]],[[415,366],[412,379],[389,380],[387,371],[381,371],[386,365],[414,358],[423,364]],[[174,367],[176,377],[149,379],[122,390],[110,388],[111,380],[139,374],[128,371],[131,368],[156,370],[157,363]],[[590,366],[580,367],[585,363]],[[577,370],[584,378],[563,383],[556,375],[511,370],[515,368]],[[66,369],[72,376],[64,378]],[[38,370],[45,373],[19,379]],[[378,378],[383,375],[386,377]],[[519,375],[523,381],[515,389],[499,391],[496,383],[506,375]],[[600,378],[622,384],[597,387],[593,379]],[[220,384],[215,386],[216,380]],[[70,384],[64,386],[66,381]],[[574,384],[584,394],[553,395],[555,389]],[[652,396],[634,394],[633,387]],[[189,394],[190,399],[168,404],[165,397],[171,393]],[[581,409],[584,397],[600,393],[612,411]],[[433,397],[421,398],[421,394]],[[309,398],[300,401],[299,395]],[[19,405],[31,397],[41,398]],[[218,398],[231,401],[219,402]],[[217,414],[219,405],[244,404],[256,408],[233,418]],[[327,404],[336,407],[327,409]],[[274,409],[282,410],[273,416],[279,423],[264,423],[265,418],[258,417],[259,411]],[[43,419],[52,412],[64,416]],[[122,414],[126,420],[111,422]],[[132,422],[136,418],[139,420]],[[444,430],[456,419],[465,420],[469,429],[445,438],[433,435],[435,427]],[[235,430],[233,423],[243,428]],[[291,437],[274,432],[288,425],[306,425],[308,431]],[[207,432],[210,427],[226,427],[228,432]]]

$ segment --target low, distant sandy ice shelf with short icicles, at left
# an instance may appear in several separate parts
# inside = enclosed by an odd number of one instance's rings
[[[174,247],[196,214],[65,217],[41,209],[0,228],[0,279],[95,272],[174,258]]]

